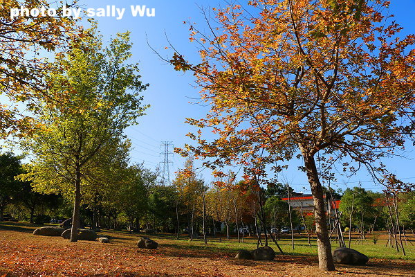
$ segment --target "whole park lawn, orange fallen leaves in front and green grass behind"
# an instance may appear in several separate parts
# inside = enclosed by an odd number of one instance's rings
[[[68,242],[60,237],[34,236],[38,226],[22,222],[0,222],[0,276],[415,276],[415,247],[404,245],[407,256],[385,247],[387,237],[380,235],[377,244],[367,235],[367,242],[351,243],[351,248],[369,256],[366,266],[336,265],[337,271],[318,269],[315,241],[295,234],[295,250],[290,235],[279,240],[284,255],[273,261],[234,259],[239,249],[256,248],[255,238],[238,243],[235,238],[219,242],[180,240],[175,235],[149,234],[159,243],[157,250],[138,249],[141,234],[107,231],[111,242]],[[408,238],[415,244],[412,235]],[[273,242],[270,247],[277,250]],[[333,247],[338,243],[333,242]],[[5,275],[6,274],[6,275]]]

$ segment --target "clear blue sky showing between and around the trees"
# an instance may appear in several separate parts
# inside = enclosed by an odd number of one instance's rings
[[[241,1],[244,3],[245,1]],[[407,35],[415,33],[414,10],[415,0],[391,1],[390,12],[396,15],[395,19],[405,29],[401,33]],[[150,87],[145,91],[145,102],[151,105],[147,115],[140,118],[140,124],[127,129],[127,136],[131,139],[134,149],[131,152],[131,161],[144,162],[147,168],[154,169],[163,165],[163,156],[160,152],[162,141],[172,141],[175,147],[182,147],[184,143],[190,142],[185,136],[190,132],[190,126],[185,125],[186,117],[199,118],[205,115],[206,107],[191,105],[190,98],[199,96],[198,90],[192,87],[194,82],[192,73],[179,73],[172,66],[165,64],[147,45],[156,48],[160,53],[171,55],[171,51],[165,51],[167,46],[166,35],[169,41],[185,54],[187,60],[198,60],[196,44],[189,41],[188,26],[183,21],[194,21],[203,25],[199,6],[225,6],[225,1],[219,0],[182,0],[182,1],[151,1],[151,0],[81,0],[84,8],[105,8],[107,5],[115,5],[117,8],[126,8],[123,19],[117,20],[113,17],[95,17],[98,20],[99,29],[104,40],[118,32],[131,32],[133,42],[132,62],[140,63],[140,74],[142,82],[149,83]],[[133,5],[146,5],[148,8],[156,9],[155,17],[132,17],[129,7]],[[87,26],[87,25],[86,25]],[[146,38],[147,37],[147,38]],[[409,152],[407,157],[414,157]],[[170,157],[173,161],[170,167],[170,176],[174,179],[174,172],[183,166],[184,159],[174,154]],[[285,173],[285,179],[290,181],[297,191],[308,192],[308,181],[303,172],[297,171],[301,161],[292,161],[292,165]],[[413,172],[414,161],[412,159],[393,159],[387,161],[398,177],[404,181],[415,181]],[[210,172],[201,172],[206,181],[211,181]],[[362,186],[371,190],[380,190],[371,182],[365,172],[351,179],[338,177],[338,183],[333,187],[343,190],[344,181],[349,181],[347,186],[357,186],[361,181]],[[305,188],[305,189],[304,189]]]

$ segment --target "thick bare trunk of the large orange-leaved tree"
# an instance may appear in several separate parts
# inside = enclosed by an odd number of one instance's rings
[[[317,234],[318,266],[322,270],[333,271],[335,270],[335,267],[333,256],[331,256],[329,232],[327,231],[322,184],[318,179],[318,172],[313,155],[305,153],[303,148],[302,154],[304,157],[304,166],[306,168],[308,182],[311,187],[311,193],[313,194],[315,232]]]

